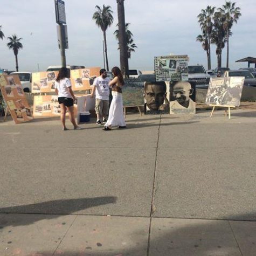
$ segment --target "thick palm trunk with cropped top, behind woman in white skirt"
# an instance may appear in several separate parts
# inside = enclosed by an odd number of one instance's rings
[[[128,54],[126,41],[126,22],[124,17],[124,0],[116,0],[118,13],[119,47],[120,47],[120,67],[123,75],[128,75]]]

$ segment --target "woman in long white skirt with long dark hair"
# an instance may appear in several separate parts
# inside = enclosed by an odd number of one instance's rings
[[[123,76],[119,67],[113,67],[112,73],[114,78],[109,82],[109,87],[112,88],[113,99],[110,104],[108,121],[103,130],[111,130],[112,126],[118,128],[126,128],[126,121],[123,115],[123,98],[122,87],[124,86]]]

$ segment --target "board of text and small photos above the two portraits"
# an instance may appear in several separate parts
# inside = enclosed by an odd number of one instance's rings
[[[155,57],[156,81],[188,81],[187,55]]]

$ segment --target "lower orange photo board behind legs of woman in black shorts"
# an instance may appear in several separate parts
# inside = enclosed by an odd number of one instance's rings
[[[77,115],[77,102],[74,102],[74,114]],[[60,116],[57,95],[34,96],[33,116]]]

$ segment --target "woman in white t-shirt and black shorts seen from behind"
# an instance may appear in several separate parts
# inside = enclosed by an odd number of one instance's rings
[[[66,127],[66,112],[70,115],[70,121],[74,126],[74,130],[82,129],[77,125],[74,118],[74,99],[75,95],[71,88],[71,81],[68,69],[66,67],[61,67],[59,74],[56,78],[54,84],[55,92],[58,95],[58,102],[60,105],[60,121],[63,125],[63,130],[68,130]]]

